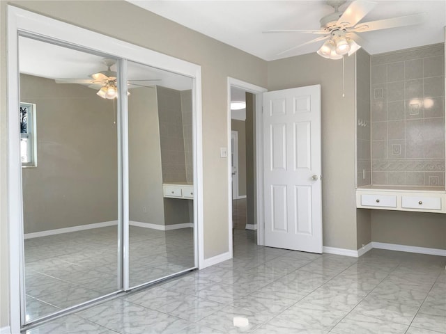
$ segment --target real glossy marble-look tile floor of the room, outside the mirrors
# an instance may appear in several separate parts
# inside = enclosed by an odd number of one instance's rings
[[[316,255],[233,236],[232,260],[26,333],[446,333],[445,257]]]

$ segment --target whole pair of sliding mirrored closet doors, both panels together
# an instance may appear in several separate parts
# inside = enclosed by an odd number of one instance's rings
[[[22,325],[197,267],[192,79],[28,36],[19,54]]]

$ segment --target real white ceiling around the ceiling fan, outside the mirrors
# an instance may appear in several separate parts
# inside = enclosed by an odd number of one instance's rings
[[[266,61],[315,52],[322,42],[277,53],[317,36],[307,33],[262,33],[272,29],[319,29],[319,19],[333,12],[325,1],[165,1],[128,0],[204,35],[220,40]],[[361,22],[427,13],[417,26],[361,33],[369,54],[444,42],[446,1],[375,0],[376,7]],[[351,1],[340,10],[343,11]]]

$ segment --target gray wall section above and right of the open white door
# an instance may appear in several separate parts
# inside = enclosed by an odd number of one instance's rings
[[[268,90],[321,84],[323,245],[357,249],[355,199],[355,59],[316,53],[268,63]]]

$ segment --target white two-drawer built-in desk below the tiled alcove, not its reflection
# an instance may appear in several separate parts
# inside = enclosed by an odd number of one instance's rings
[[[356,207],[446,214],[446,191],[443,186],[362,186],[356,189]]]

